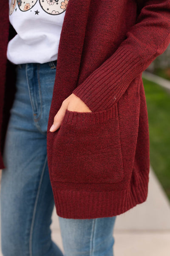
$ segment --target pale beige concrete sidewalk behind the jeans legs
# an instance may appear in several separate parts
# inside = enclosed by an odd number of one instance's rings
[[[51,230],[52,239],[63,251],[55,207]],[[152,168],[147,200],[116,217],[113,236],[115,256],[170,255],[170,202]]]

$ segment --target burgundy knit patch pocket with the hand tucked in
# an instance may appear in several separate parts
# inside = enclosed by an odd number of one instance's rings
[[[66,110],[52,145],[54,181],[116,183],[124,178],[117,104],[99,112]]]

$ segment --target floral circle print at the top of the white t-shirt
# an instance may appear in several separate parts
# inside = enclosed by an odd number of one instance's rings
[[[16,5],[18,5],[20,11],[29,11],[35,6],[38,0],[11,0],[9,15],[14,12]],[[41,8],[48,14],[58,15],[65,12],[68,0],[39,0]]]

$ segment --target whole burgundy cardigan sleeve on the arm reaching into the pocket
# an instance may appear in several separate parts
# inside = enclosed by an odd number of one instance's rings
[[[170,0],[139,2],[141,11],[126,39],[73,91],[92,112],[109,109],[119,101],[130,82],[170,43]]]

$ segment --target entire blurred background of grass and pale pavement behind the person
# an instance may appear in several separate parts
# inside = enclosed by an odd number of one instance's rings
[[[148,196],[144,203],[116,217],[114,256],[170,255],[170,45],[143,72],[142,79],[150,133]],[[63,251],[55,207],[51,231]]]

